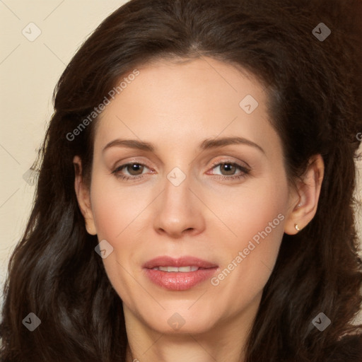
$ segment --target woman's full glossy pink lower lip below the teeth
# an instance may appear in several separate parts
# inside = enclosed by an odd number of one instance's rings
[[[209,269],[199,269],[182,273],[181,271],[160,271],[155,269],[144,269],[146,276],[154,284],[170,291],[187,291],[187,289],[210,279],[215,273],[217,267]]]

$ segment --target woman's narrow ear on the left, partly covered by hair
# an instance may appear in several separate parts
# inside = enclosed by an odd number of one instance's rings
[[[91,208],[91,194],[89,188],[84,184],[83,181],[81,158],[74,156],[73,164],[76,173],[74,188],[76,189],[76,198],[78,199],[79,209],[81,209],[81,213],[83,214],[88,233],[91,235],[96,235],[97,230],[95,228],[93,212]]]

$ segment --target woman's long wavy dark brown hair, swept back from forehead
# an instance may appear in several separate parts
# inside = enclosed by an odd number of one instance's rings
[[[97,118],[74,132],[119,78],[153,59],[214,57],[257,76],[269,95],[288,177],[325,162],[317,214],[284,235],[247,342],[245,362],[325,361],[361,305],[354,157],[362,132],[357,1],[132,0],[76,52],[54,91],[35,203],[13,252],[0,333],[2,362],[125,361],[122,303],[94,251],[74,192],[75,155],[91,177]],[[324,23],[322,40],[313,29]],[[68,135],[68,136],[67,136]],[[23,324],[35,313],[41,325]],[[332,324],[320,332],[319,313]]]

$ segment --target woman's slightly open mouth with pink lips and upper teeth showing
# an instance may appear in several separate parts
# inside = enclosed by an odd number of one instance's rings
[[[157,257],[143,265],[148,279],[170,291],[186,291],[210,279],[218,265],[196,257]]]

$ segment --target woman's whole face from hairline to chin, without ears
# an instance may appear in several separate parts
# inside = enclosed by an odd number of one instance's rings
[[[257,310],[296,202],[266,104],[204,58],[141,67],[105,107],[87,224],[126,319],[202,333]]]

